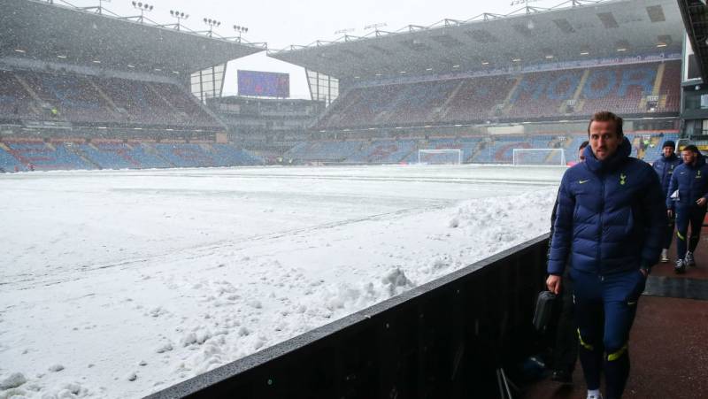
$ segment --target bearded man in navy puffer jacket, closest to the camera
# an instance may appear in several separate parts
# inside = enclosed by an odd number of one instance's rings
[[[620,398],[629,375],[627,340],[636,303],[661,251],[666,207],[657,173],[629,157],[622,119],[596,112],[585,162],[568,169],[558,192],[546,281],[558,293],[570,257],[580,358],[588,398]]]

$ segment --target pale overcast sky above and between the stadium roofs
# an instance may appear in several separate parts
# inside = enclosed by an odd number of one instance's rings
[[[428,26],[441,19],[470,19],[481,12],[505,14],[523,5],[512,5],[512,0],[358,0],[353,2],[331,0],[140,0],[154,6],[146,16],[158,23],[174,22],[170,10],[189,14],[184,25],[193,30],[206,29],[204,18],[218,19],[219,35],[233,36],[234,25],[248,27],[243,37],[249,42],[267,42],[270,49],[283,49],[290,44],[309,44],[315,40],[334,40],[342,34],[335,31],[352,29],[350,35],[366,35],[364,27],[385,23],[383,30],[397,30],[406,25]],[[563,0],[529,0],[532,6],[550,7]],[[60,1],[55,0],[56,3]],[[98,0],[69,0],[78,6],[97,5]],[[131,0],[104,1],[104,6],[119,15],[134,15]],[[260,53],[230,62],[227,69],[225,94],[236,94],[236,71],[281,72],[290,74],[290,94],[294,98],[309,98],[304,69],[289,65]]]

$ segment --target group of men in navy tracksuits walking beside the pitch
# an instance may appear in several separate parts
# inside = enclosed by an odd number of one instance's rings
[[[588,399],[603,397],[602,372],[606,396],[622,396],[629,330],[651,266],[659,258],[668,262],[674,225],[675,271],[696,265],[693,252],[708,203],[708,165],[696,146],[684,147],[679,159],[675,143],[665,142],[652,169],[629,157],[632,146],[622,123],[609,111],[590,119],[581,163],[564,174],[552,217],[546,284],[557,295],[565,291],[563,313],[573,314],[572,321],[561,316],[563,344],[553,379],[570,380],[577,351]]]

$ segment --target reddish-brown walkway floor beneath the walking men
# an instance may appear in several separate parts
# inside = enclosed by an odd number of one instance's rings
[[[708,229],[696,249],[697,267],[673,273],[673,264],[654,267],[632,328],[632,371],[625,398],[708,398]],[[675,257],[675,247],[672,249]],[[543,380],[526,399],[584,399],[577,365],[572,388]]]

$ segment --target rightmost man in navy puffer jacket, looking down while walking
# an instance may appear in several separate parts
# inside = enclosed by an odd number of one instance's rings
[[[676,215],[676,267],[674,271],[686,271],[686,265],[695,266],[693,251],[700,239],[705,218],[705,203],[708,202],[708,165],[695,145],[681,151],[683,165],[673,170],[671,183],[666,192],[666,207],[669,216]],[[673,193],[678,190],[678,199]],[[691,225],[689,250],[686,251],[686,235]]]

